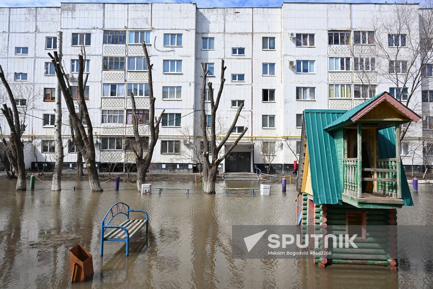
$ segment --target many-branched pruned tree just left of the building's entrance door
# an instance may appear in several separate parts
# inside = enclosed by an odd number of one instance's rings
[[[201,70],[203,73],[203,83],[201,85],[201,101],[200,101],[200,110],[201,110],[201,133],[203,138],[204,152],[203,152],[203,181],[204,181],[204,192],[206,194],[215,194],[215,183],[216,183],[216,174],[218,172],[218,165],[226,158],[226,156],[233,150],[233,148],[238,144],[241,138],[245,135],[248,130],[247,127],[244,128],[242,133],[236,138],[234,143],[230,147],[226,147],[224,154],[220,157],[220,151],[226,144],[226,141],[229,139],[233,128],[238,121],[239,115],[243,108],[243,103],[239,106],[238,111],[236,112],[235,118],[233,119],[232,125],[227,131],[226,135],[223,139],[216,143],[216,131],[215,131],[215,123],[216,123],[216,111],[220,105],[221,95],[223,93],[224,82],[226,79],[224,78],[224,72],[227,67],[224,66],[224,59],[221,59],[221,76],[220,76],[220,89],[216,95],[216,99],[213,99],[213,89],[212,82],[207,83],[207,87],[209,88],[209,99],[210,99],[210,139],[208,137],[207,132],[207,116],[205,111],[205,97],[206,97],[206,80],[207,74],[209,70],[206,69],[206,65],[204,63],[201,64]]]

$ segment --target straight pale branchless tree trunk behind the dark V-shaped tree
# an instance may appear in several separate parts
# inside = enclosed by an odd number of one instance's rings
[[[62,46],[62,33],[57,32],[57,53],[58,59],[61,62],[61,46]],[[61,93],[60,84],[57,81],[55,89],[55,123],[54,123],[54,144],[55,144],[55,165],[53,171],[53,179],[51,190],[61,190],[61,172],[63,170],[63,141],[61,139]]]

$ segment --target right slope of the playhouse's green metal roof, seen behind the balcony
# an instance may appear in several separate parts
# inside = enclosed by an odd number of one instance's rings
[[[379,158],[395,158],[395,131],[394,128],[385,128],[379,131]],[[406,173],[403,162],[401,164],[401,198],[404,206],[413,206],[410,195],[409,184],[407,184]]]

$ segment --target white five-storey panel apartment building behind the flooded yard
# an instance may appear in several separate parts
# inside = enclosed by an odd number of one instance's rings
[[[82,45],[86,51],[86,103],[100,171],[133,170],[129,92],[135,95],[143,122],[140,133],[149,134],[145,125],[149,122],[148,74],[141,45],[145,41],[153,64],[155,114],[165,109],[152,169],[197,169],[201,66],[209,70],[207,82],[213,83],[216,95],[224,59],[226,81],[217,131],[226,133],[241,104],[244,108],[226,146],[245,127],[248,131],[221,164],[221,171],[266,170],[271,163],[272,170],[287,172],[299,154],[304,109],[350,109],[382,91],[396,94],[395,85],[378,67],[392,66],[393,72],[401,72],[405,63],[391,65],[376,59],[378,43],[391,50],[397,46],[402,55],[409,56],[405,43],[420,41],[420,33],[413,32],[419,31],[418,21],[411,23],[410,33],[390,32],[383,22],[380,25],[379,20],[393,16],[396,6],[284,3],[271,8],[197,8],[195,3],[62,3],[49,8],[0,8],[0,64],[27,115],[26,166],[49,169],[54,162],[56,77],[48,53],[57,49],[58,31],[73,92]],[[415,4],[404,7],[418,11]],[[418,90],[407,105],[423,115],[423,122],[407,131],[402,144],[405,165],[424,164],[421,143],[431,137],[433,128],[429,102],[430,94],[433,102],[433,89],[425,81]],[[208,91],[205,94],[208,99]],[[4,96],[1,90],[2,102],[7,103]],[[406,100],[404,95],[401,99]],[[205,106],[209,112],[210,103]],[[73,168],[76,150],[69,141],[65,103],[62,107],[65,167]],[[1,127],[7,133],[4,118]]]

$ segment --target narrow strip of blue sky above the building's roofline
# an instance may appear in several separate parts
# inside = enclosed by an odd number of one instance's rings
[[[281,7],[283,0],[3,0],[0,7],[59,7],[61,2],[134,3],[175,2],[197,3],[197,7]],[[385,0],[285,0],[285,2],[385,3]],[[393,1],[388,1],[392,3]],[[409,1],[408,1],[409,2]]]

